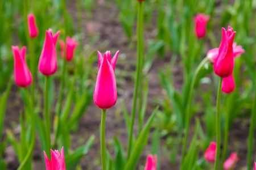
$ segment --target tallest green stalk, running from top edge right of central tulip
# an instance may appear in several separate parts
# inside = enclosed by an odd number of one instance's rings
[[[140,85],[140,81],[142,84],[141,75],[142,75],[142,63],[143,63],[143,8],[144,2],[138,1],[138,16],[137,16],[137,65],[136,65],[136,78],[135,78],[135,85],[134,85],[134,93],[133,93],[133,108],[131,110],[131,126],[129,131],[129,141],[128,141],[128,150],[127,150],[127,159],[131,154],[131,145],[133,139],[133,127],[135,121],[135,113],[136,113],[136,105],[137,105],[137,95]],[[142,89],[141,89],[142,91]],[[140,95],[142,96],[142,95]],[[142,97],[141,97],[142,98]],[[142,100],[142,99],[140,99]],[[140,102],[141,103],[141,102]]]

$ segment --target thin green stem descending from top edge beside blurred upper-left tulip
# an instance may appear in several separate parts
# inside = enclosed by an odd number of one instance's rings
[[[32,39],[30,37],[30,34],[28,32],[28,21],[27,21],[27,0],[23,1],[23,17],[24,17],[24,24],[25,24],[25,31],[26,31],[26,38],[28,42],[28,49],[30,51],[30,70],[32,74],[32,84],[31,84],[31,100],[34,104],[34,97],[35,97],[35,50],[34,50],[34,43],[32,42]]]

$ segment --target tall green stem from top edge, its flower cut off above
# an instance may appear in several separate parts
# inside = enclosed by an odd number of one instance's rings
[[[128,150],[127,150],[127,160],[131,154],[131,144],[133,139],[133,126],[135,120],[135,112],[136,112],[136,104],[137,104],[137,95],[138,95],[138,87],[139,87],[139,78],[140,78],[140,71],[141,71],[141,36],[139,35],[141,29],[141,10],[142,10],[142,3],[138,2],[138,19],[137,19],[137,66],[136,66],[136,79],[134,85],[134,94],[133,94],[133,108],[131,110],[131,126],[129,131],[129,141],[128,141]]]

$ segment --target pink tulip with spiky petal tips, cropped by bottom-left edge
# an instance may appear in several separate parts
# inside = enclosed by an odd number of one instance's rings
[[[51,150],[52,161],[50,161],[44,152],[44,159],[46,160],[46,170],[66,170],[64,159],[64,148],[61,148],[61,152]]]

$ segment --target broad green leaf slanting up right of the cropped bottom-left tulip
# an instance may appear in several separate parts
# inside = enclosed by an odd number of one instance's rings
[[[93,145],[94,139],[95,139],[95,136],[92,135],[84,146],[76,148],[76,150],[72,154],[65,156],[65,165],[67,170],[75,167],[75,165],[79,163],[82,156],[88,153],[90,147],[92,147]]]

